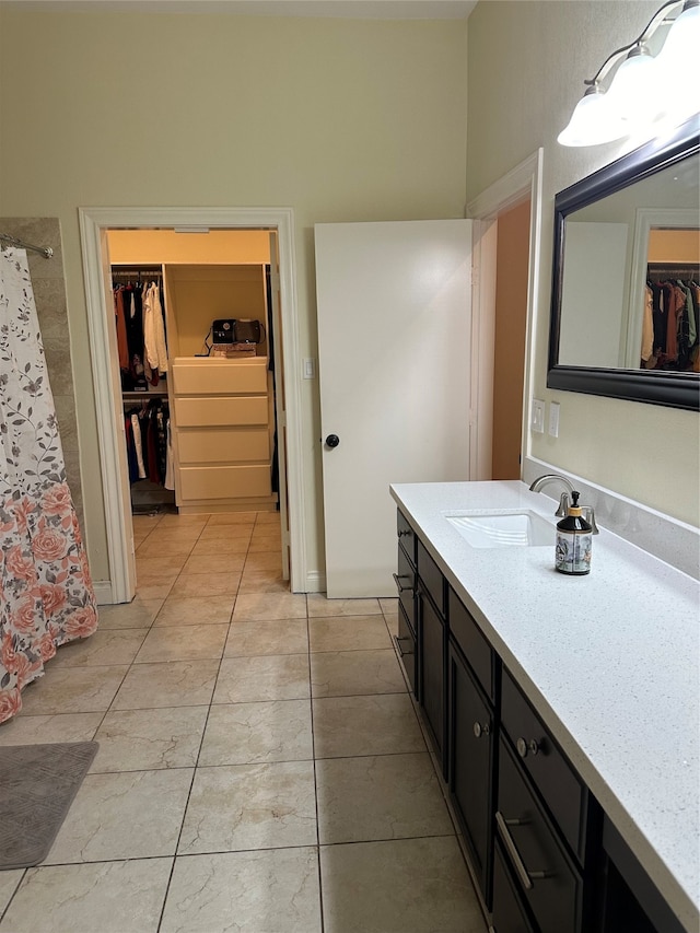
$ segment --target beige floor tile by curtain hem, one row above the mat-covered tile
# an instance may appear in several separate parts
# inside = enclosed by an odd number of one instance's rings
[[[106,710],[119,689],[127,665],[109,667],[54,667],[22,692],[26,715],[90,713]]]

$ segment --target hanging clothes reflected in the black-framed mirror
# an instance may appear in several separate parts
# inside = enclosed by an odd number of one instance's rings
[[[700,372],[700,269],[651,265],[648,269],[641,366]]]

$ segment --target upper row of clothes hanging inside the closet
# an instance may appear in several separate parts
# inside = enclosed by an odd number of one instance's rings
[[[147,392],[167,372],[160,270],[112,268],[122,392]]]

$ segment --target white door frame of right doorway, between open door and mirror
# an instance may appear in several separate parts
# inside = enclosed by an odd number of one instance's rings
[[[495,339],[495,266],[498,215],[529,198],[529,260],[527,273],[527,323],[525,334],[525,384],[521,427],[521,467],[529,455],[532,387],[542,223],[542,158],[538,149],[467,203],[474,224],[474,275],[471,284],[472,417],[470,470],[474,479],[491,479],[493,431],[493,354]],[[522,469],[521,469],[522,476]]]

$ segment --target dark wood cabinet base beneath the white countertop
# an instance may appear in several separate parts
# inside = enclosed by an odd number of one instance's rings
[[[400,514],[397,652],[495,933],[684,933]],[[468,594],[467,594],[468,597]]]

